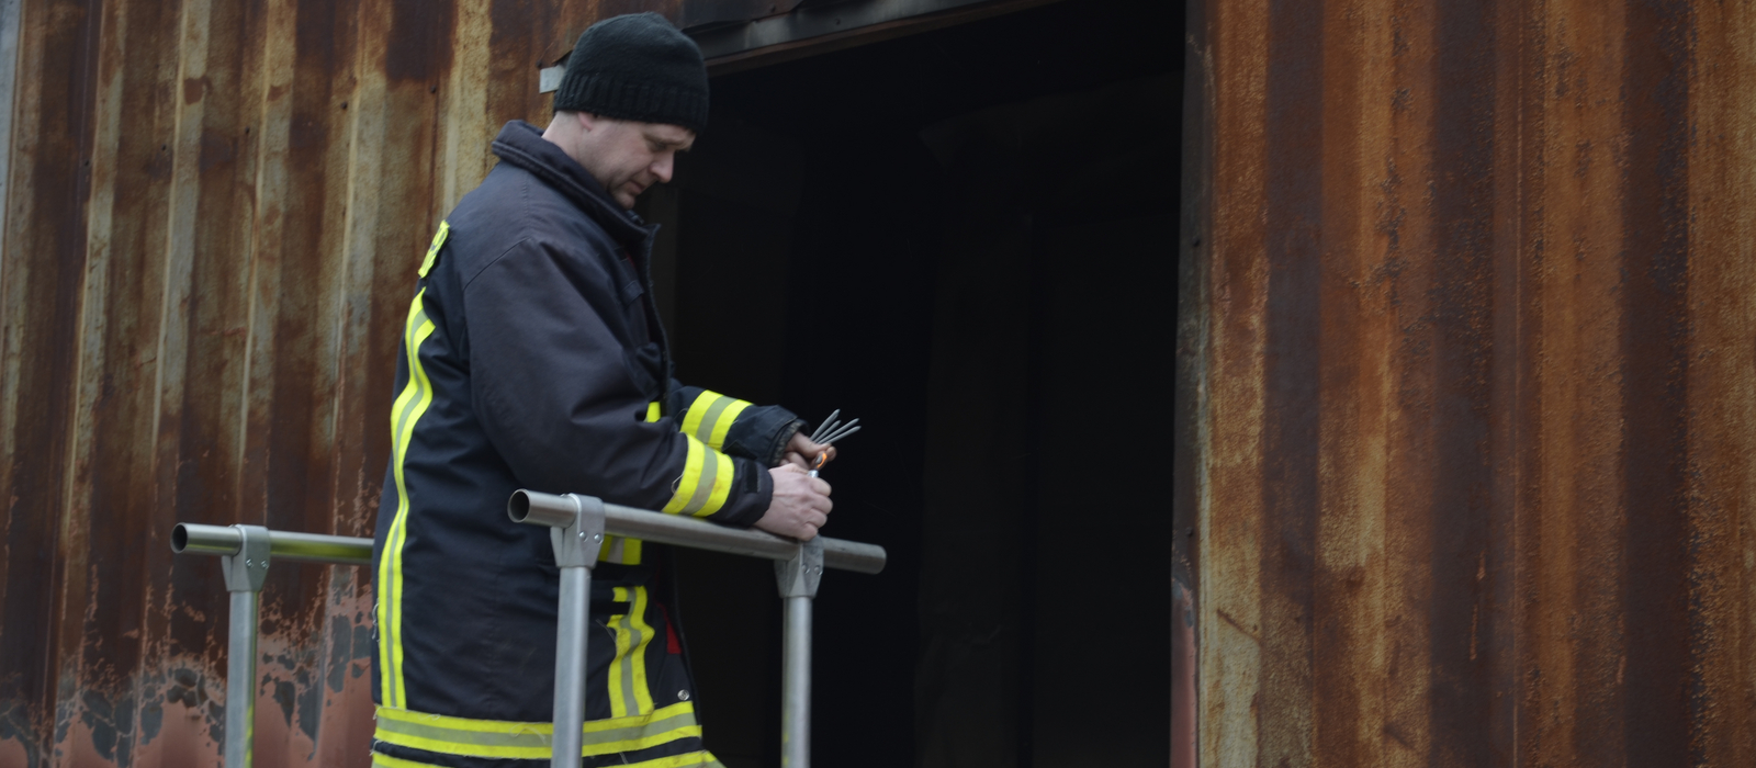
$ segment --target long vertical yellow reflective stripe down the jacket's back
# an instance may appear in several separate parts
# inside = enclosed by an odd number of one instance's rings
[[[393,440],[393,466],[397,480],[397,514],[392,517],[390,531],[385,533],[385,554],[378,563],[378,659],[379,659],[379,696],[385,703],[397,707],[407,696],[402,684],[402,544],[407,538],[409,487],[404,479],[404,461],[409,442],[414,438],[414,424],[427,407],[432,405],[434,389],[421,368],[421,342],[434,333],[434,323],[427,317],[421,298],[423,288],[409,303],[409,319],[404,323],[404,354],[409,361],[409,382],[402,388],[390,410],[390,437]]]

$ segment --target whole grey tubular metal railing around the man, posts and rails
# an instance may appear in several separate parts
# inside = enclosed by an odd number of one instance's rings
[[[678,547],[766,558],[785,600],[781,642],[781,766],[811,761],[811,600],[824,568],[878,573],[883,547],[817,537],[810,542],[723,528],[695,517],[604,503],[594,496],[518,491],[506,505],[515,523],[548,526],[560,566],[555,628],[555,742],[550,764],[579,768],[585,738],[585,645],[590,622],[592,566],[604,537],[630,537]],[[170,535],[177,554],[220,556],[232,596],[227,629],[225,764],[249,768],[256,721],[258,596],[274,559],[372,565],[372,540],[321,533],[270,531],[263,526],[179,523]]]

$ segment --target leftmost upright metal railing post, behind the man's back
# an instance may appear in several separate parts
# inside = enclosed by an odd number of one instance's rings
[[[232,526],[244,540],[237,554],[220,558],[232,593],[225,663],[225,766],[249,768],[256,729],[256,598],[269,577],[269,530]]]

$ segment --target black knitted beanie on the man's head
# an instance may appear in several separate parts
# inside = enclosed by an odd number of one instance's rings
[[[695,40],[658,14],[616,16],[592,25],[567,56],[555,110],[666,123],[701,133],[708,126],[708,67]]]

